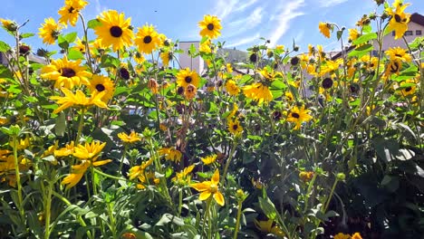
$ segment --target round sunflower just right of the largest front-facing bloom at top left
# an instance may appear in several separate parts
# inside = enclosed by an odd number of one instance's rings
[[[137,33],[134,41],[139,48],[140,53],[146,54],[158,49],[160,42],[159,33],[156,32],[153,25],[148,24],[143,25],[143,27],[139,27],[139,32]]]

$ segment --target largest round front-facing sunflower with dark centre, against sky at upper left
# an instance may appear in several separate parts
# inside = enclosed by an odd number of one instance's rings
[[[117,52],[132,43],[134,33],[130,26],[131,18],[125,19],[123,13],[109,10],[101,13],[97,19],[101,25],[94,28],[94,33],[105,47],[112,46],[113,52]]]

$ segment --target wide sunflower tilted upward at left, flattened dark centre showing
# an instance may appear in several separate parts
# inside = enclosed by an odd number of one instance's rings
[[[75,62],[68,61],[65,56],[63,59],[52,60],[51,64],[42,68],[41,77],[55,81],[54,87],[72,89],[74,86],[88,84],[87,78],[92,74],[85,71],[81,66],[82,60]]]

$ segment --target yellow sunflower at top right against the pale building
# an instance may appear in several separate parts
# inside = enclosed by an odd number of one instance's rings
[[[403,34],[408,30],[408,24],[410,23],[410,14],[405,14],[405,8],[409,4],[402,4],[401,0],[396,0],[393,3],[395,11],[391,7],[386,8],[387,14],[391,16],[390,22],[388,25],[389,31],[395,32],[395,40],[401,38]]]

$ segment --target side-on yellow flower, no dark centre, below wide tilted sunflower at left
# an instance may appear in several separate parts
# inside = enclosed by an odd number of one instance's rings
[[[105,92],[97,93],[97,91],[94,91],[92,93],[91,98],[87,98],[85,94],[77,90],[75,94],[72,93],[72,91],[69,91],[68,89],[62,88],[64,97],[62,96],[52,96],[51,100],[57,100],[56,103],[61,104],[56,110],[53,110],[53,114],[57,114],[58,112],[65,110],[69,107],[72,107],[73,105],[81,106],[81,107],[89,107],[92,105],[97,105],[100,108],[108,108],[105,102],[101,100],[101,98],[104,96]]]

